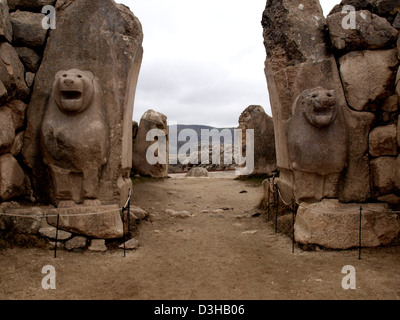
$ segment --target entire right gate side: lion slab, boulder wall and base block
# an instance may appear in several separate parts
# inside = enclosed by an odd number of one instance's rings
[[[348,203],[382,203],[364,225],[379,229],[370,231],[371,246],[399,234],[387,206],[400,203],[399,12],[398,0],[343,0],[325,19],[317,0],[267,2],[276,181],[286,201],[300,204],[299,242],[357,245],[346,236],[359,220]],[[354,223],[338,223],[339,213]]]

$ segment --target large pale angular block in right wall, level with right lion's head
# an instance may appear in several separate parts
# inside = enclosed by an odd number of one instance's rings
[[[397,50],[350,52],[339,59],[347,101],[357,111],[375,111],[395,86]]]

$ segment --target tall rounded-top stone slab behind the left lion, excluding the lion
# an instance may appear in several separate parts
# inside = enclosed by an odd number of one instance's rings
[[[132,188],[132,116],[143,54],[141,24],[127,7],[112,0],[66,0],[56,9],[57,29],[49,33],[27,113],[23,156],[32,169],[34,195],[44,201],[52,198],[47,192],[51,176],[41,159],[40,136],[55,75],[78,69],[90,71],[100,84],[110,129],[109,158],[96,198],[122,206]],[[79,32],[73,31],[77,26]]]

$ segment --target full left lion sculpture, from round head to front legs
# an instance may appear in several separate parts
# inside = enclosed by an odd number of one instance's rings
[[[57,204],[97,198],[109,153],[109,127],[101,96],[89,71],[71,69],[55,76],[41,127],[41,151]]]

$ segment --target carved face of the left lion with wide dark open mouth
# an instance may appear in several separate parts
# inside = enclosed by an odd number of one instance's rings
[[[93,101],[93,80],[93,74],[89,71],[59,71],[53,85],[58,107],[66,113],[84,111]]]

